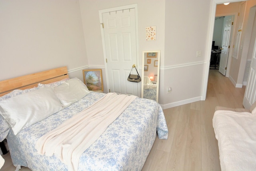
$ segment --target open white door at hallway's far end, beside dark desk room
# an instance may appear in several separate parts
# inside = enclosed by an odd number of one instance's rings
[[[226,75],[226,67],[228,64],[228,52],[230,48],[230,33],[232,30],[233,16],[226,16],[224,18],[224,32],[222,39],[222,48],[220,54],[220,67],[219,72],[222,75]]]

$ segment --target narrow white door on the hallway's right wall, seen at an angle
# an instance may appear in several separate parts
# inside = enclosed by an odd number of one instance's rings
[[[240,49],[240,41],[241,41],[241,35],[242,35],[242,28],[244,24],[244,13],[245,13],[245,7],[246,7],[246,2],[243,2],[240,5],[239,13],[238,13],[238,22],[237,22],[237,28],[236,28],[236,35],[234,39],[234,46],[233,46],[233,53],[232,57],[238,58],[238,52]]]

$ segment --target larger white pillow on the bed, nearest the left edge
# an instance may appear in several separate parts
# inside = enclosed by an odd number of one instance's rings
[[[12,127],[14,135],[62,109],[53,87],[44,87],[0,101],[0,113]]]

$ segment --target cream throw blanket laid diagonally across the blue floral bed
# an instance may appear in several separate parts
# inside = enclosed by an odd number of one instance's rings
[[[136,98],[107,93],[102,99],[40,137],[36,149],[41,155],[56,155],[68,170],[78,170],[82,153]]]

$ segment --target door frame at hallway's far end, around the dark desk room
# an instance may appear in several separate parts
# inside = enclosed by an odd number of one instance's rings
[[[218,14],[216,15],[216,17],[222,17],[222,16],[234,16],[234,25],[232,26],[231,29],[231,41],[230,41],[230,47],[232,47],[234,45],[234,38],[236,36],[234,29],[236,28],[236,24],[237,24],[237,18],[238,18],[238,12],[234,12],[234,13],[227,13],[227,14]],[[226,69],[226,75],[225,77],[229,77],[229,72],[230,72],[230,66],[231,66],[231,60],[232,59],[232,53],[233,53],[233,48],[229,48],[229,52],[228,52],[228,63],[227,63],[227,69]]]

